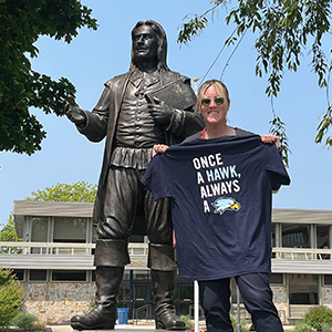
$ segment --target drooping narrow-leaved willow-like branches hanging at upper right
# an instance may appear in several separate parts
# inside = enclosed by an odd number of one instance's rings
[[[280,91],[284,71],[295,72],[301,64],[301,56],[308,54],[309,49],[311,69],[318,75],[318,85],[326,89],[328,98],[328,108],[318,126],[315,143],[321,143],[325,137],[325,144],[331,147],[332,106],[329,100],[329,79],[332,70],[332,50],[328,55],[324,53],[323,38],[331,39],[332,1],[212,0],[210,3],[211,7],[203,14],[187,17],[188,21],[179,31],[178,42],[188,43],[203,32],[209,19],[214,20],[217,12],[225,11],[226,23],[235,25],[231,35],[225,39],[226,46],[232,45],[236,51],[246,33],[250,31],[257,37],[256,75],[268,75],[266,94],[271,100]],[[288,162],[289,148],[284,124],[276,115],[273,106],[272,112],[271,132],[281,137],[282,153]]]

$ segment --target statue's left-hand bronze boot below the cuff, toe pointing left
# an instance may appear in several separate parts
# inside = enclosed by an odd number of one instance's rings
[[[94,308],[84,315],[74,315],[74,330],[113,330],[117,318],[116,298],[123,278],[123,267],[97,267]]]

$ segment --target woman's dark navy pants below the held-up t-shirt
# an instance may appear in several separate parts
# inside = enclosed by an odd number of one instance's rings
[[[257,332],[283,331],[272,302],[268,273],[235,277],[247,311]],[[208,332],[232,332],[229,318],[230,278],[199,281],[200,304],[205,311]]]

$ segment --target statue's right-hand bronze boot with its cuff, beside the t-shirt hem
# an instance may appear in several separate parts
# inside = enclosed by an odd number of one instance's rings
[[[175,314],[177,266],[174,262],[173,246],[151,243],[149,266],[155,297],[156,330],[186,330],[186,323]]]

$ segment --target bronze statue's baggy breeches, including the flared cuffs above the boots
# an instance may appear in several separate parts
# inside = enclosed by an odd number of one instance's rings
[[[149,239],[148,267],[176,271],[173,225],[167,198],[154,200],[141,179],[145,169],[111,166],[106,184],[104,220],[97,225],[95,266],[122,267],[129,262],[127,241],[144,226]]]

